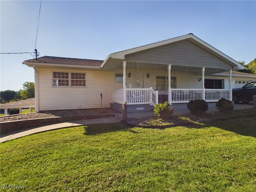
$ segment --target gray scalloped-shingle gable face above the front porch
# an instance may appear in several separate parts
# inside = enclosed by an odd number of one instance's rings
[[[232,69],[232,66],[220,58],[188,40],[129,54],[125,56],[125,60],[131,62],[173,64],[177,66],[204,66],[207,68]]]

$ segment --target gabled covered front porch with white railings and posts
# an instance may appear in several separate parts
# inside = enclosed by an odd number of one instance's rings
[[[155,106],[164,101],[232,100],[232,70],[244,66],[188,34],[110,54],[102,68],[122,75],[123,86],[112,90],[112,103]],[[211,76],[220,72],[229,72],[229,78]]]

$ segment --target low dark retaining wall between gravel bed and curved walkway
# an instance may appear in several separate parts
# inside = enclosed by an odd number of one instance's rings
[[[0,134],[11,132],[11,131],[22,130],[24,128],[38,127],[38,126],[50,125],[50,124],[61,123],[61,122],[68,122],[68,121],[82,120],[82,119],[107,118],[107,117],[115,117],[115,114],[49,117],[49,118],[0,122]]]

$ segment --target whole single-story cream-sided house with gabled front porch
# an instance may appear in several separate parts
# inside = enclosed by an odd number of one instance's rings
[[[139,108],[159,100],[232,100],[236,80],[248,80],[232,75],[243,65],[193,34],[116,52],[104,61],[44,56],[23,64],[35,71],[37,112],[109,108],[123,101]]]

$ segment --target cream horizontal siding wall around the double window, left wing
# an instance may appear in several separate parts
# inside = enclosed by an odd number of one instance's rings
[[[109,108],[111,89],[120,89],[122,84],[114,82],[115,72],[112,71],[72,71],[86,74],[86,87],[53,87],[52,71],[38,69],[39,72],[39,110],[70,110]],[[64,70],[63,72],[66,72]]]

